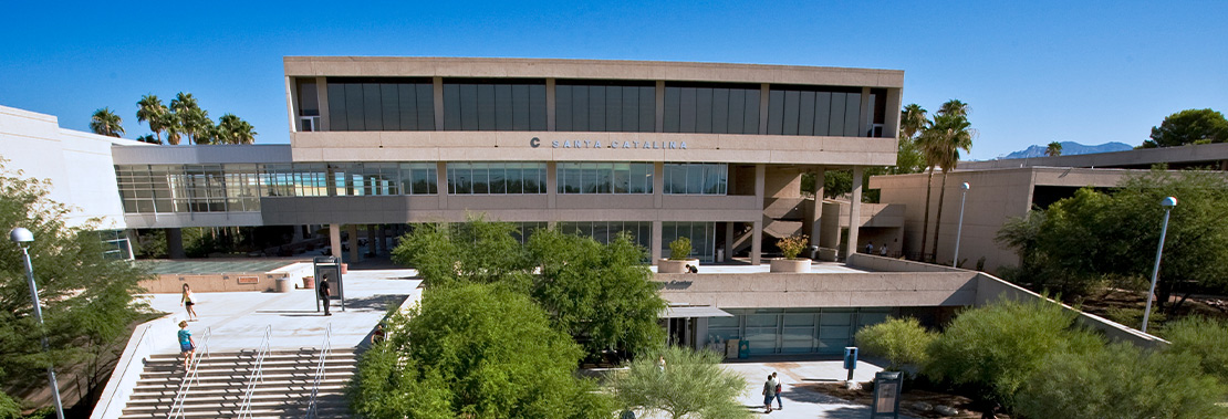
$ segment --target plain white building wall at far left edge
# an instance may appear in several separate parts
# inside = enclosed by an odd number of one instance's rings
[[[87,117],[87,116],[86,116]],[[0,157],[10,172],[50,182],[50,199],[70,206],[66,222],[101,217],[99,229],[125,229],[111,147],[142,145],[63,129],[54,116],[0,106]]]

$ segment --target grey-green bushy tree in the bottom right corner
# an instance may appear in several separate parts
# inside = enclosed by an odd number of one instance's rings
[[[1222,418],[1223,387],[1195,356],[1144,351],[1119,343],[1057,353],[1019,388],[1014,412],[1025,418]]]

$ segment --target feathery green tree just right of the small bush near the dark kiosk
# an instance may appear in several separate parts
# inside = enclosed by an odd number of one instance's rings
[[[1099,337],[1074,329],[1073,311],[1034,300],[1000,300],[959,313],[930,345],[923,374],[936,381],[973,386],[981,398],[1009,408],[1016,390],[1051,354],[1103,347]]]

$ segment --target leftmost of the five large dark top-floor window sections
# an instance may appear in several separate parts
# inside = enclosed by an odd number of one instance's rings
[[[435,130],[433,90],[425,77],[328,77],[329,130]]]

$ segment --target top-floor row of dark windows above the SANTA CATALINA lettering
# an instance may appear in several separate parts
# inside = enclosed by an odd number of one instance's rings
[[[318,116],[314,81],[297,82],[301,116]],[[435,130],[430,79],[329,77],[329,130]],[[443,130],[546,130],[543,79],[443,81]],[[759,134],[759,85],[667,82],[663,131]],[[885,90],[772,86],[770,135],[866,136],[883,124]],[[656,131],[656,86],[650,81],[559,80],[554,92],[559,131]],[[872,111],[862,120],[862,103]],[[865,125],[865,127],[863,127]],[[314,129],[314,128],[313,128]]]

